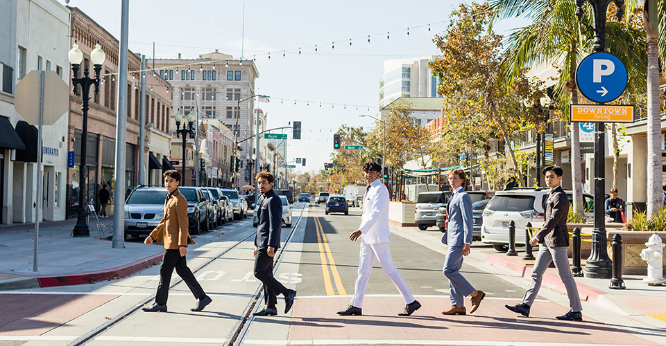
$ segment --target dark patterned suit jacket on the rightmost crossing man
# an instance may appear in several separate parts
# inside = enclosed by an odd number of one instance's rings
[[[569,199],[561,186],[549,194],[545,207],[545,223],[535,237],[549,248],[569,246],[569,231],[567,230]]]

